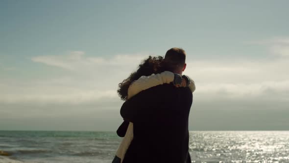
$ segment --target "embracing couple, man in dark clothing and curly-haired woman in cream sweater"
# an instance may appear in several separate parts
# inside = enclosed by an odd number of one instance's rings
[[[123,103],[122,138],[112,163],[191,163],[189,113],[195,85],[186,69],[186,53],[171,48],[165,57],[149,56],[119,84]]]

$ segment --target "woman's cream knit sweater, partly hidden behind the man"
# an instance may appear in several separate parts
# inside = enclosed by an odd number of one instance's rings
[[[170,83],[174,79],[174,73],[170,71],[165,71],[160,74],[152,74],[151,76],[142,76],[138,80],[131,83],[128,88],[127,99],[130,99],[134,95],[139,92],[148,89],[153,86],[157,86],[164,83]],[[189,88],[193,92],[195,90],[194,81],[189,85]],[[126,130],[125,136],[122,138],[120,146],[118,148],[116,156],[121,159],[121,163],[123,161],[126,150],[128,149],[131,140],[133,139],[133,123],[129,122],[128,128]]]

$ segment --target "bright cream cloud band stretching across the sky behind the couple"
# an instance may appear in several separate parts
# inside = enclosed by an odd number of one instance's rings
[[[0,102],[85,104],[106,97],[117,101],[118,83],[127,78],[147,55],[118,54],[104,58],[74,51],[35,56],[32,58],[35,62],[79,73],[42,81],[0,81]],[[103,65],[106,65],[105,71]],[[287,101],[288,97],[284,95],[289,91],[288,65],[289,58],[188,60],[184,74],[195,81],[195,95],[200,101],[214,98]]]

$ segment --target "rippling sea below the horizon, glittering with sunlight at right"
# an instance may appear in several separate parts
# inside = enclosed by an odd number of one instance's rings
[[[111,163],[115,132],[0,131],[0,163]],[[289,163],[289,131],[192,131],[192,163]]]

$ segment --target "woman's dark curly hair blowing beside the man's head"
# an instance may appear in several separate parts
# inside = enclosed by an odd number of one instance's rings
[[[127,99],[127,91],[129,85],[138,80],[141,76],[150,76],[151,74],[159,74],[164,71],[163,69],[163,57],[162,56],[149,56],[143,60],[139,65],[139,69],[133,72],[129,77],[119,83],[118,94],[121,100]]]

